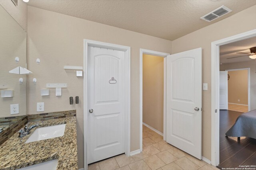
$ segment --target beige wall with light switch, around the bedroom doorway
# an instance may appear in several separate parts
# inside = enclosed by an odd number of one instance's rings
[[[202,47],[203,50],[202,80],[203,83],[208,83],[208,90],[204,90],[202,94],[202,156],[209,160],[211,160],[211,42],[256,29],[256,22],[252,22],[255,18],[256,6],[252,6],[172,41],[173,54],[198,47]]]

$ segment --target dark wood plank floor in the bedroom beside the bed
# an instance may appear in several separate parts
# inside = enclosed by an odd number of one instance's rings
[[[252,168],[256,168],[256,139],[241,137],[238,141],[237,137],[225,135],[240,114],[242,112],[220,110],[219,168],[237,168],[240,165],[252,165]]]

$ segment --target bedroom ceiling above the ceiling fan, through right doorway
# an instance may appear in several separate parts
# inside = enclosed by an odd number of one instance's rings
[[[252,61],[255,59],[250,59],[250,57],[238,57],[246,54],[236,54],[236,53],[250,53],[250,48],[256,47],[256,37],[244,39],[242,41],[237,41],[234,43],[226,44],[220,46],[220,63],[237,63],[242,61]],[[227,59],[230,57],[238,57],[234,59]]]

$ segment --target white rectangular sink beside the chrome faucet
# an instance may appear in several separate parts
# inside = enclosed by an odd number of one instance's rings
[[[31,134],[25,143],[62,137],[64,135],[65,127],[66,124],[39,127],[34,131],[34,133]]]

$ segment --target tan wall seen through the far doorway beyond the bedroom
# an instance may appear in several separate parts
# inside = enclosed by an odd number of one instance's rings
[[[228,71],[228,74],[228,103],[248,105],[248,70]]]

